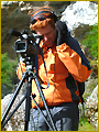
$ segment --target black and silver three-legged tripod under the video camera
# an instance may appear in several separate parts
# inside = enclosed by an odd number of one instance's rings
[[[15,91],[14,91],[14,94],[13,94],[13,96],[12,96],[12,98],[11,98],[11,100],[10,100],[10,102],[9,102],[9,105],[8,105],[7,109],[6,109],[2,118],[1,118],[1,130],[4,128],[4,125],[6,125],[7,122],[10,120],[10,118],[14,114],[14,112],[18,110],[18,108],[21,106],[21,103],[26,99],[26,100],[25,100],[25,124],[24,124],[24,131],[28,131],[29,121],[30,121],[31,99],[32,99],[32,100],[34,101],[34,103],[36,105],[37,110],[43,114],[44,120],[45,120],[45,122],[47,123],[47,125],[50,127],[50,129],[51,129],[52,131],[56,131],[56,128],[55,128],[55,124],[54,124],[54,121],[53,121],[51,111],[50,111],[50,109],[48,109],[48,107],[47,107],[47,103],[46,103],[45,98],[44,98],[44,95],[43,95],[42,86],[40,85],[40,81],[38,81],[38,79],[37,79],[36,73],[33,72],[33,69],[34,69],[35,67],[33,67],[33,61],[32,61],[31,57],[28,57],[28,58],[26,58],[25,65],[26,65],[26,72],[25,72],[24,75],[22,76],[22,79],[20,80],[19,86],[16,87],[16,89],[15,89]],[[14,100],[15,100],[15,98],[16,98],[16,96],[18,96],[18,94],[19,94],[19,91],[20,91],[20,89],[21,89],[21,87],[22,87],[22,85],[23,85],[23,82],[25,81],[25,79],[26,79],[26,81],[28,81],[26,92],[25,92],[23,99],[22,99],[22,100],[19,102],[19,105],[15,107],[15,109],[14,109],[14,110],[11,112],[11,114],[7,118],[7,116],[8,116],[9,111],[10,111],[10,109],[11,109],[11,107],[12,107],[12,105],[13,105],[13,102],[14,102]],[[32,79],[34,79],[34,81],[35,81],[35,84],[36,84],[37,90],[38,90],[38,92],[40,92],[40,95],[41,95],[41,98],[42,98],[42,101],[43,101],[43,103],[44,103],[44,107],[45,107],[45,110],[46,110],[46,112],[47,112],[47,116],[48,116],[50,121],[47,121],[47,119],[45,118],[43,111],[40,109],[38,105],[36,103],[35,99],[34,99],[35,96],[32,95],[32,92],[31,92]],[[6,120],[6,118],[7,118],[7,120]],[[6,120],[6,121],[4,121],[4,120]]]

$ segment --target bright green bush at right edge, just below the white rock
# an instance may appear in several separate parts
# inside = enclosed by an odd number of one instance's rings
[[[89,53],[94,58],[98,58],[98,24],[92,25],[92,30],[90,30],[87,35],[81,41],[82,45],[89,50]]]

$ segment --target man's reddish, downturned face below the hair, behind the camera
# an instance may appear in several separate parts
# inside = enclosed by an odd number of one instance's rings
[[[36,34],[44,35],[44,44],[47,47],[52,47],[56,40],[56,29],[52,28],[51,24],[43,29],[35,29]]]

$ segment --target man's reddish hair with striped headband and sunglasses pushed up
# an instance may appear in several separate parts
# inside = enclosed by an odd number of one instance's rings
[[[29,12],[30,15],[30,29],[34,31],[35,29],[45,28],[51,24],[55,29],[55,22],[57,16],[51,7],[42,7],[33,12]]]

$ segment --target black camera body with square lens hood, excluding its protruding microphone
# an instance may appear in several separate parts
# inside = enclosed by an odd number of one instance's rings
[[[23,34],[21,38],[14,42],[14,48],[16,53],[20,53],[22,57],[31,57],[35,53],[36,38],[33,35]],[[37,45],[38,46],[38,45]]]

